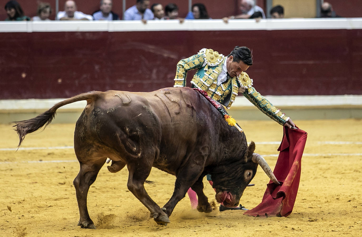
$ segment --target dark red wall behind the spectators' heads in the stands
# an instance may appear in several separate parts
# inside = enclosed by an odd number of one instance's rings
[[[48,2],[51,4],[53,13],[51,14],[50,19],[54,20],[55,18],[55,0],[17,0],[20,3],[25,15],[29,17],[36,16],[37,5],[39,2]],[[92,14],[94,11],[99,9],[99,0],[75,0],[78,6],[78,11],[84,12],[86,14]],[[8,0],[0,0],[0,20],[5,20],[7,15],[4,10],[5,4]],[[66,0],[59,0],[59,11],[64,10],[64,3]],[[136,0],[127,0],[126,8],[134,5]],[[152,3],[161,3],[163,6],[168,3],[175,3],[179,7],[179,16],[185,17],[188,13],[188,1],[187,0],[156,0],[150,1]],[[239,5],[240,0],[193,0],[193,3],[203,3],[206,6],[209,15],[213,19],[219,19],[224,16],[231,16],[235,14],[240,14]],[[220,4],[222,2],[222,4]],[[329,3],[333,5],[334,11],[342,17],[362,17],[362,1],[361,0],[328,0]],[[256,0],[258,6],[262,7],[265,11],[266,1],[265,0]],[[113,0],[113,11],[122,17],[122,0]]]

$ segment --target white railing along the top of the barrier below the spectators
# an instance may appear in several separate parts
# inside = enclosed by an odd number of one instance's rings
[[[292,18],[229,20],[178,20],[153,21],[20,21],[0,22],[0,32],[68,32],[68,31],[181,31],[181,30],[315,30],[362,29],[362,18]]]

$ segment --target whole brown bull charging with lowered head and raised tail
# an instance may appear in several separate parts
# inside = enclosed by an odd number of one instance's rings
[[[96,228],[89,217],[87,194],[107,158],[112,160],[111,172],[127,166],[127,188],[160,225],[170,223],[169,216],[190,187],[198,195],[197,210],[212,211],[203,193],[206,174],[214,182],[216,201],[226,207],[239,204],[258,164],[279,184],[265,159],[253,153],[254,142],[248,146],[244,133],[229,126],[204,96],[188,87],[82,93],[35,118],[15,122],[18,146],[26,134],[48,125],[59,107],[81,100],[87,100],[87,105],[74,132],[80,171],[73,184],[82,228]],[[152,167],[176,176],[174,192],[163,208],[144,188]]]

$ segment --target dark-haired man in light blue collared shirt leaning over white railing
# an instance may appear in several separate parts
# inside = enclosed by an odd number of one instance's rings
[[[150,0],[136,0],[136,5],[133,5],[125,11],[123,19],[152,20],[154,16],[148,7],[150,7]]]

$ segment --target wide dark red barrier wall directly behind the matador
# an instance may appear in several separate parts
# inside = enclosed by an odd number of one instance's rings
[[[361,95],[361,36],[361,29],[1,33],[0,99],[172,87],[180,59],[203,47],[227,55],[236,45],[253,50],[247,72],[262,95]]]

